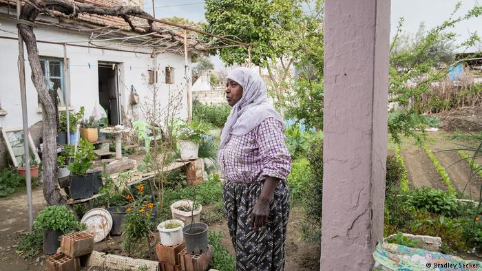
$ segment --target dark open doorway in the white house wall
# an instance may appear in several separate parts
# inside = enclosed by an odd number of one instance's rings
[[[121,124],[118,63],[98,63],[98,100],[107,112],[109,125]]]

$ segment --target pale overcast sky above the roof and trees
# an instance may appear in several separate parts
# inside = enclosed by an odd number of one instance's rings
[[[395,34],[400,17],[405,19],[404,31],[415,34],[422,21],[426,23],[427,29],[430,29],[448,19],[456,3],[455,0],[392,0],[390,37]],[[461,9],[457,12],[459,15],[465,14],[474,6],[481,6],[482,0],[461,0],[461,3]],[[202,0],[154,0],[154,7],[156,18],[177,16],[195,22],[205,21]],[[146,12],[152,12],[151,0],[144,0],[144,9]],[[472,32],[476,31],[482,35],[482,18],[459,23],[451,31],[457,33],[458,43],[465,41]],[[224,67],[219,58],[211,57],[211,59],[216,70]]]

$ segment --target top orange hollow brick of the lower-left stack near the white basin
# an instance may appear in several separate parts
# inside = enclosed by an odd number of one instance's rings
[[[94,236],[87,232],[72,232],[62,235],[61,251],[70,257],[80,257],[94,250]]]

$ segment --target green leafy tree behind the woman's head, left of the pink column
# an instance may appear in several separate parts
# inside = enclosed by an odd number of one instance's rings
[[[310,10],[304,12],[303,6]],[[207,0],[206,30],[252,44],[252,63],[268,70],[271,92],[282,102],[290,87],[293,64],[300,65],[300,70],[316,70],[316,74],[321,74],[322,7],[321,0]],[[216,39],[209,41],[227,45]],[[228,65],[247,62],[247,47],[223,48],[211,54],[218,52]],[[280,111],[283,113],[283,108]]]

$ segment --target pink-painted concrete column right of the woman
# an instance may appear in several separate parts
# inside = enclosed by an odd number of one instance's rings
[[[390,0],[326,0],[321,270],[372,270],[384,230]]]

